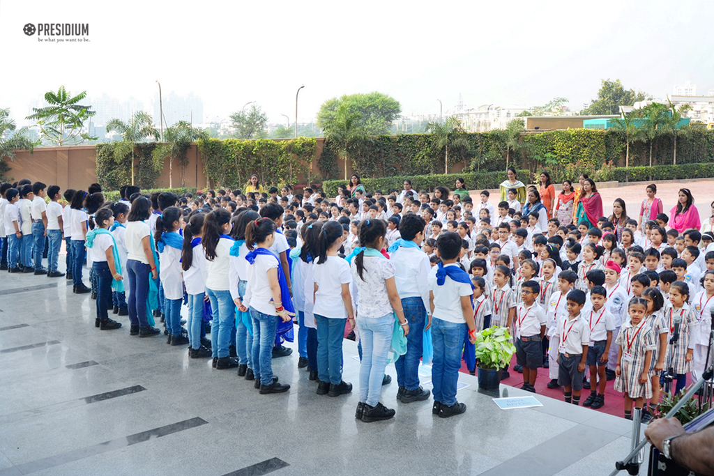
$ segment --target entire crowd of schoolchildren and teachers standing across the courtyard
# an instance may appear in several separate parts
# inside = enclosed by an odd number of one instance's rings
[[[466,411],[456,400],[462,359],[475,373],[470,344],[498,326],[513,336],[511,370],[523,373],[524,390],[535,393],[545,367],[548,388],[562,387],[566,402],[579,405],[585,388],[583,405],[598,408],[614,379],[628,418],[633,403],[652,417],[663,383],[675,382],[676,392],[689,373],[702,375],[711,358],[714,235],[698,230],[688,189],[667,216],[648,186],[635,219],[620,198],[602,216],[584,175],[556,194],[547,173],[538,188],[510,169],[496,208],[488,191],[473,201],[467,185],[459,178],[453,193],[428,193],[406,180],[401,191],[368,193],[355,174],[327,197],[313,188],[265,191],[253,176],[245,193],[146,195],[124,186],[112,203],[96,183],[87,191],[4,183],[1,265],[66,275],[74,293],[96,299],[100,330],[121,328],[110,311],[128,315],[129,335],[139,338],[160,335],[160,319],[167,344],[212,358],[213,368],[237,368],[261,394],[290,388],[271,359],[292,352],[282,343],[293,341],[293,325],[298,368],[318,395],[352,391],[342,343],[358,340],[356,417],[364,422],[395,414],[380,401],[391,362],[401,402],[433,395],[435,415]],[[58,268],[63,239],[66,273]],[[421,386],[422,358],[431,358],[433,393]]]

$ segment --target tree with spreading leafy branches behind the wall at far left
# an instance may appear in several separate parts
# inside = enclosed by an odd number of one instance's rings
[[[45,93],[45,101],[49,106],[32,108],[34,114],[27,118],[37,121],[40,133],[46,141],[56,143],[60,147],[72,146],[89,139],[96,140],[96,137],[82,132],[84,121],[96,114],[96,111],[91,110],[91,106],[79,104],[85,97],[86,91],[73,97],[64,86],[59,86],[56,93]]]

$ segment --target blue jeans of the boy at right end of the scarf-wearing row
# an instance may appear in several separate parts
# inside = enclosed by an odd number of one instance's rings
[[[431,385],[434,401],[447,407],[456,403],[456,383],[458,369],[461,368],[466,329],[466,323],[456,324],[437,318],[431,319],[431,342],[434,346]],[[411,334],[411,330],[409,333]]]

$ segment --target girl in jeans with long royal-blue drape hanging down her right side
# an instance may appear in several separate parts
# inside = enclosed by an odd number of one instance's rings
[[[278,330],[278,320],[288,323],[295,315],[290,298],[285,273],[276,255],[268,248],[275,240],[276,225],[269,218],[251,221],[246,226],[246,245],[250,253],[246,260],[248,270],[248,288],[243,307],[248,308],[253,323],[253,374],[255,388],[261,394],[282,393],[290,385],[278,383],[273,377],[273,343]]]

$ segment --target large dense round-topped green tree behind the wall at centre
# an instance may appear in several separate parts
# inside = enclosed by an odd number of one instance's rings
[[[317,125],[326,130],[337,120],[341,107],[356,114],[357,125],[370,136],[378,136],[391,131],[393,121],[401,113],[401,104],[396,99],[376,91],[367,94],[351,94],[341,98],[331,98],[320,106]]]

